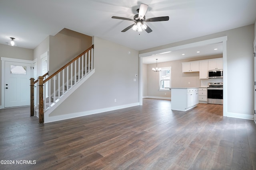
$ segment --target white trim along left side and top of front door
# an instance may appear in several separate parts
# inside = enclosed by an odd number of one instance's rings
[[[1,63],[2,63],[2,75],[1,75],[1,105],[0,105],[0,109],[4,108],[4,80],[5,80],[5,62],[6,61],[10,61],[10,62],[17,62],[17,63],[28,63],[28,64],[33,64],[36,62],[35,60],[23,60],[23,59],[13,59],[13,58],[6,58],[6,57],[1,57]]]

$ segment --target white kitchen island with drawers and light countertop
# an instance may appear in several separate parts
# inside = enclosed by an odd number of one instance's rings
[[[198,103],[198,88],[171,88],[172,110],[187,111]]]

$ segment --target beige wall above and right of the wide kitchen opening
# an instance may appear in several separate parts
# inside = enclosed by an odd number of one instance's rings
[[[160,49],[176,47],[198,41],[227,36],[227,112],[229,114],[254,115],[254,24],[180,41],[152,49],[146,49],[139,53],[146,53]],[[241,70],[238,72],[238,70]],[[236,73],[236,74],[235,74]],[[238,90],[234,83],[242,82],[243,90]]]

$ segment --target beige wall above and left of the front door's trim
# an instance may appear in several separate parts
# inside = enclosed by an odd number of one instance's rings
[[[23,59],[23,60],[33,60],[33,50],[20,48],[20,47],[11,47],[9,45],[0,44],[0,57]],[[0,75],[2,75],[2,62],[1,61],[0,61],[0,66],[1,66]],[[2,96],[2,78],[0,79],[0,95]],[[1,98],[0,98],[0,106],[2,106]],[[2,107],[4,107],[4,106],[2,106]]]

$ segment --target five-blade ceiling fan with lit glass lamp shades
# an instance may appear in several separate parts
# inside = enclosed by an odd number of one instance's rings
[[[155,17],[155,18],[148,18],[146,19],[145,14],[148,10],[148,5],[147,4],[140,4],[140,8],[137,9],[138,14],[136,14],[133,19],[130,18],[124,18],[124,17],[117,17],[117,16],[112,16],[114,19],[120,19],[120,20],[128,20],[128,21],[134,21],[135,23],[126,27],[123,29],[121,32],[125,32],[128,29],[132,28],[134,31],[142,32],[145,30],[147,33],[152,32],[152,29],[148,27],[148,25],[145,24],[145,22],[156,22],[156,21],[168,21],[169,16],[164,16],[164,17]]]

